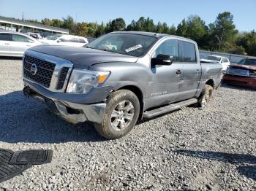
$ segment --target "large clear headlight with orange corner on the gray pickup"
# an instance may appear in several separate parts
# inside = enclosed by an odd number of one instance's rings
[[[74,69],[67,85],[67,93],[89,93],[91,88],[105,82],[109,71]]]

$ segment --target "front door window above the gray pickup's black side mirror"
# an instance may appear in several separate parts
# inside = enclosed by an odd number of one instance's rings
[[[173,61],[178,61],[178,40],[162,42],[155,50],[153,58],[157,58],[157,55],[170,55],[173,56]]]

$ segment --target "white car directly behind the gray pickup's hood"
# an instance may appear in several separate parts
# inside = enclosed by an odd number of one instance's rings
[[[71,47],[83,47],[89,43],[88,40],[82,36],[73,36],[68,34],[47,36],[39,41],[44,44],[64,45]]]

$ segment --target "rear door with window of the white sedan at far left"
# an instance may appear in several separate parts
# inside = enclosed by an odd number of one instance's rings
[[[10,34],[10,54],[23,56],[24,52],[34,45],[34,40],[20,34]]]

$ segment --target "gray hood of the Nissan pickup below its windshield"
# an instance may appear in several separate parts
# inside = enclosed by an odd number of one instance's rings
[[[89,66],[96,63],[135,63],[136,61],[138,61],[138,58],[133,56],[121,55],[115,52],[107,52],[104,50],[96,50],[86,47],[42,45],[37,47],[31,47],[29,50],[34,50],[36,52],[41,52],[47,55],[64,58],[71,61],[74,67],[77,69],[88,69]]]

